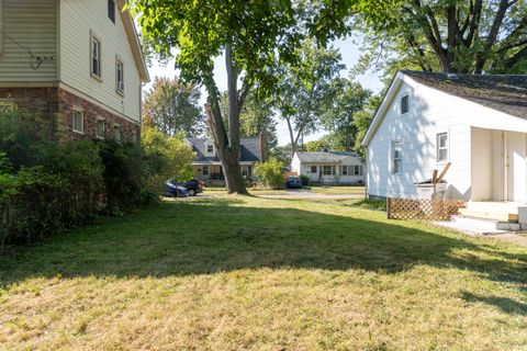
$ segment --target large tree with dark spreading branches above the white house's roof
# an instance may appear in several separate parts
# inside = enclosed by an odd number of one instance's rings
[[[360,20],[356,23],[367,33],[369,46],[361,71],[381,58],[390,73],[396,69],[476,75],[527,69],[525,0],[412,0],[394,8],[379,31]]]

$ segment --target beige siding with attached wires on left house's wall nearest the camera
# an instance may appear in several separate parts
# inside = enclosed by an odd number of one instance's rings
[[[3,10],[0,18],[0,31],[3,32],[0,33],[0,86],[38,86],[56,80],[57,1],[0,0],[0,7]],[[30,67],[27,49],[43,59],[38,69]]]

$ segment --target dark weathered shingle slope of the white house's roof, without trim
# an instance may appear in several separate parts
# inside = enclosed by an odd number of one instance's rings
[[[527,120],[527,75],[402,72],[429,88]]]

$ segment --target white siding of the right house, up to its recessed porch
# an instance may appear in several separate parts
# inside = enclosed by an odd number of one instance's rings
[[[411,112],[400,113],[400,101],[410,94]],[[380,197],[416,197],[415,182],[431,178],[434,169],[441,171],[445,163],[436,161],[436,136],[449,135],[449,161],[446,176],[447,196],[471,196],[471,129],[463,118],[447,107],[455,104],[447,94],[417,84],[403,82],[390,103],[384,120],[368,145],[368,193]],[[402,172],[392,170],[392,141],[402,146]]]

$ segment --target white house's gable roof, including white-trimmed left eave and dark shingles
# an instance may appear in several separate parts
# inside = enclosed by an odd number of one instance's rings
[[[413,87],[423,84],[527,121],[527,75],[453,75],[402,70],[393,77],[362,145],[370,143],[403,82]]]

